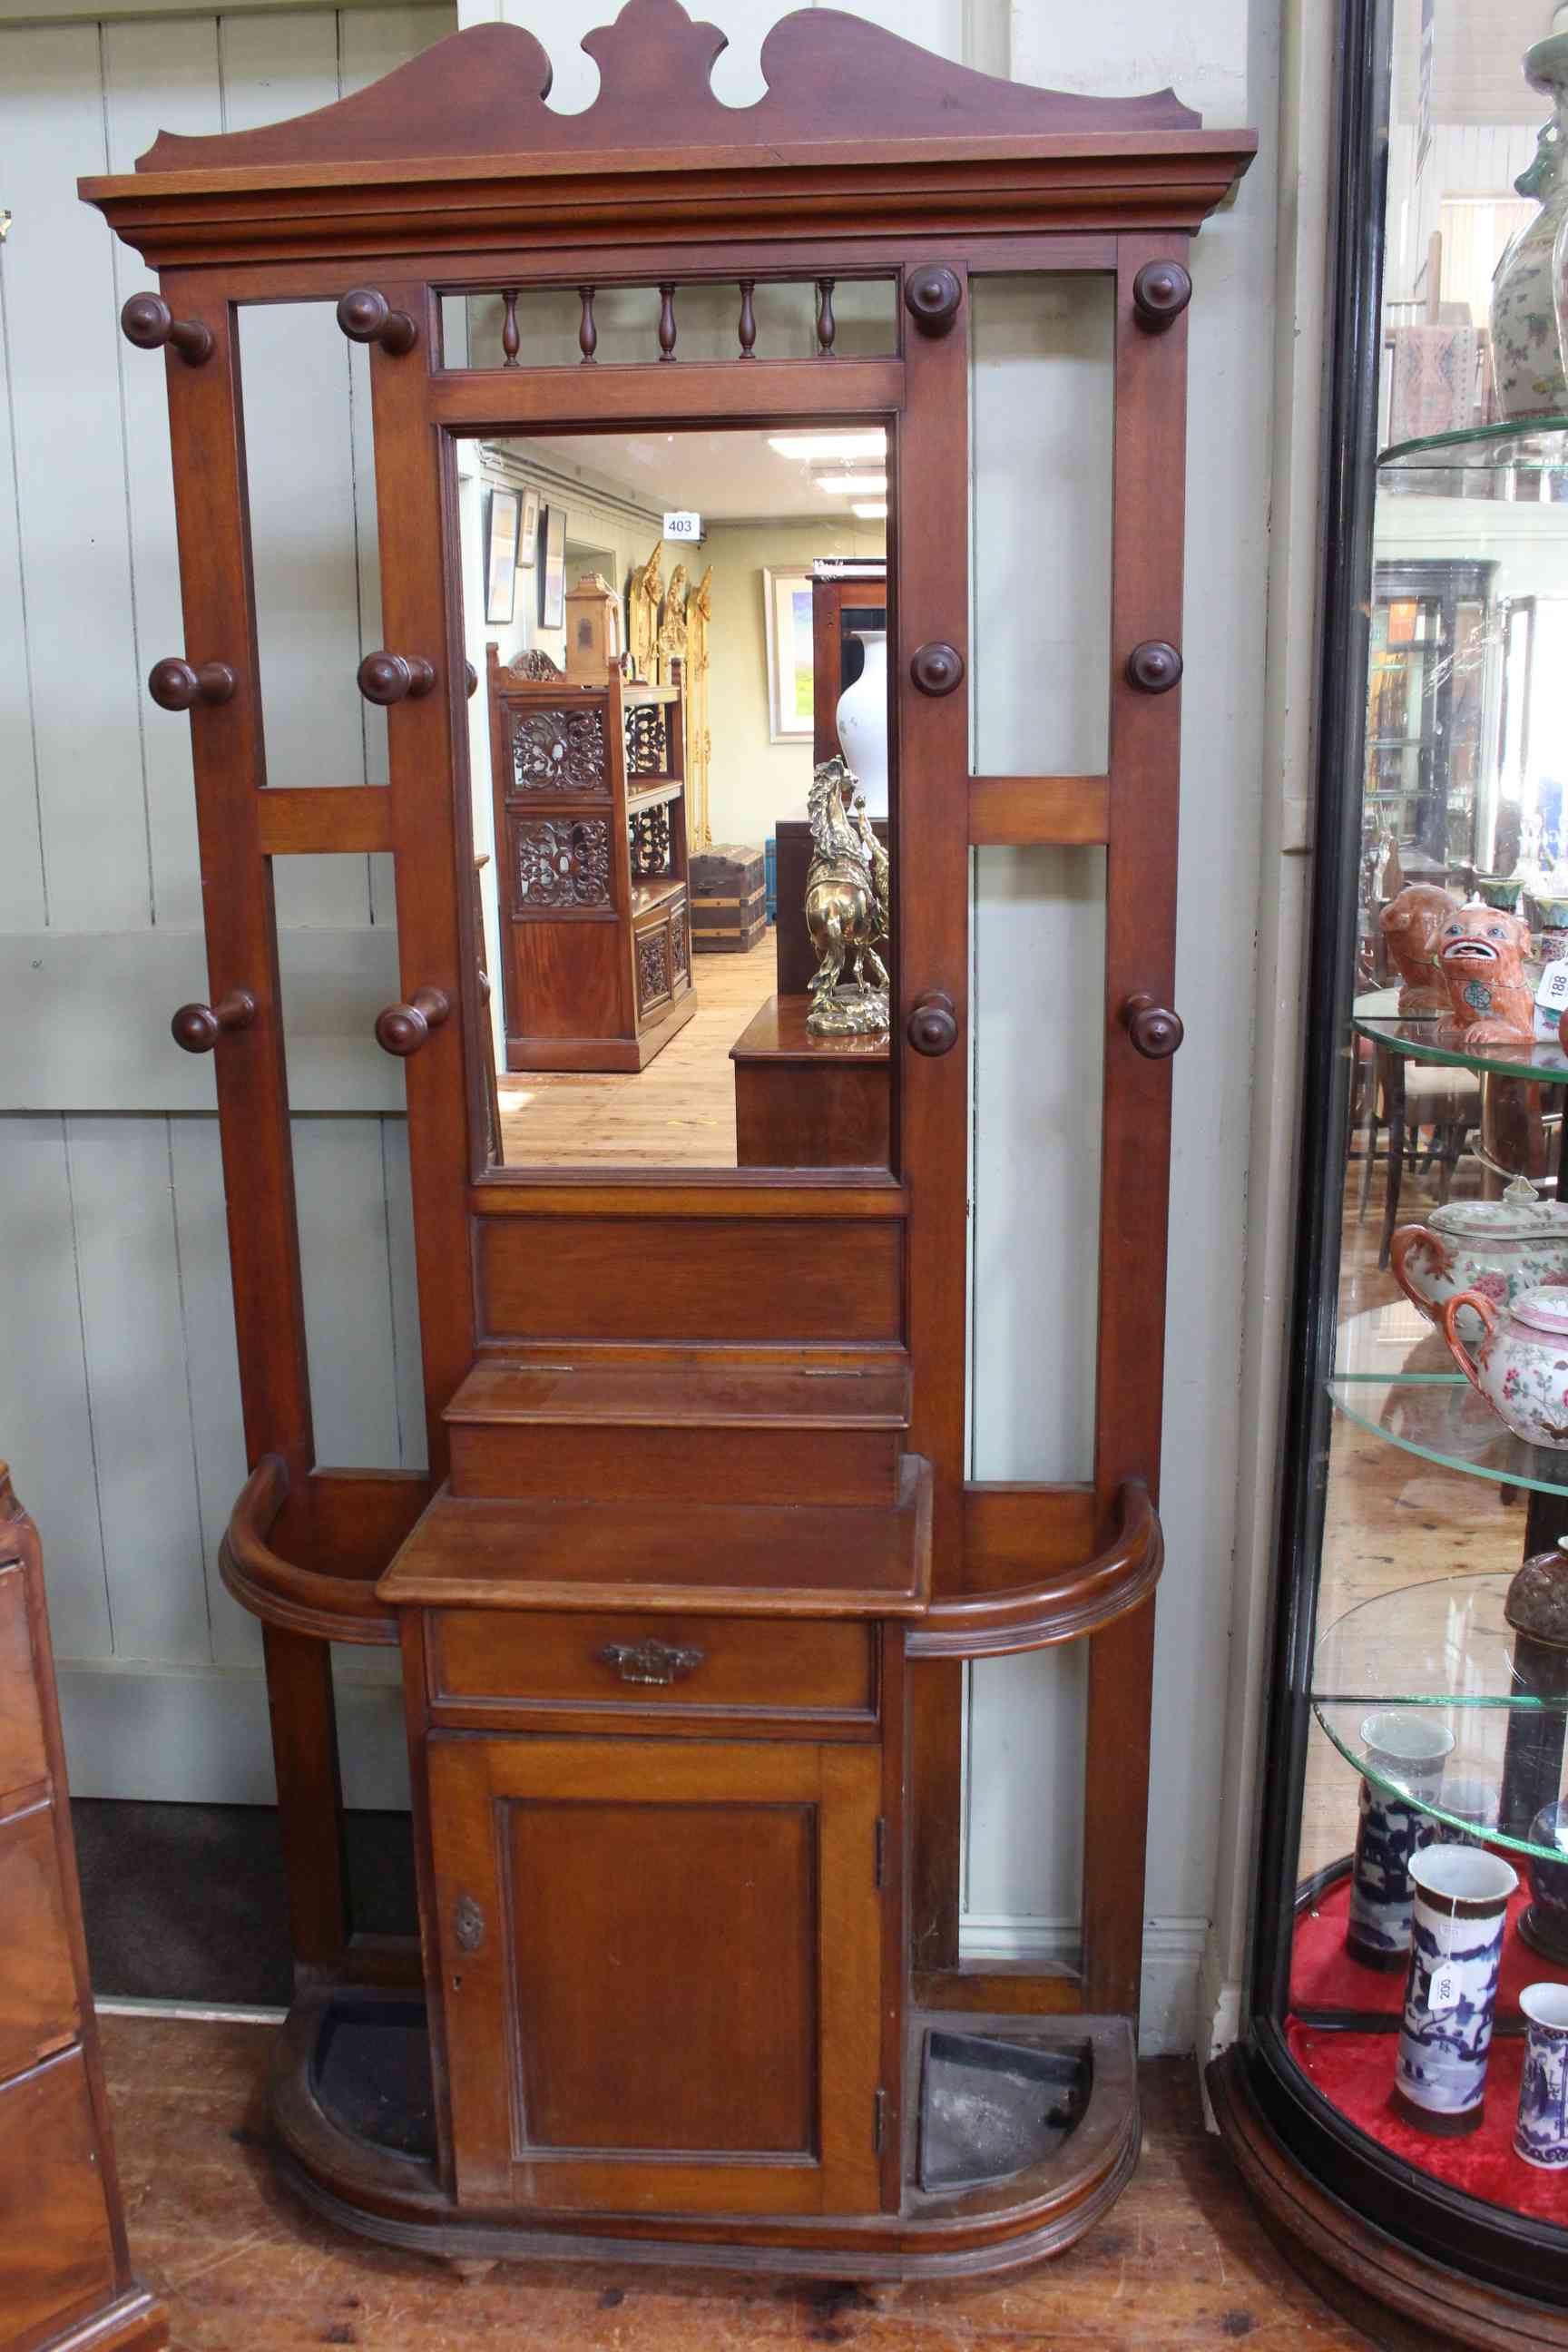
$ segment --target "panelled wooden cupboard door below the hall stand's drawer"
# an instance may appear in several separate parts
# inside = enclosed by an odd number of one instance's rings
[[[879,2204],[877,1748],[435,1736],[463,2199]]]

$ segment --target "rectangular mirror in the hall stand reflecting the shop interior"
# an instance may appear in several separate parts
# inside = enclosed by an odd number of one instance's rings
[[[484,1162],[889,1169],[886,430],[454,461]]]

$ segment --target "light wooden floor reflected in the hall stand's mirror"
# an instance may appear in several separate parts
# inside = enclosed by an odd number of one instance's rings
[[[696,1014],[646,1070],[501,1073],[508,1167],[733,1169],[736,1073],[729,1049],[778,985],[778,934],[750,955],[691,962]]]

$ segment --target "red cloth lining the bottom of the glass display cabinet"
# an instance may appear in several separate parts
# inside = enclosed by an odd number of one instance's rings
[[[1361,1971],[1371,1976],[1373,1971]],[[1378,2147],[1403,2157],[1432,2180],[1441,2180],[1481,2204],[1526,2213],[1568,2227],[1568,2178],[1542,2173],[1514,2154],[1514,2119],[1519,2112],[1519,2070],[1523,2037],[1493,2042],[1486,2067],[1486,2122],[1460,2140],[1418,2131],[1394,2114],[1394,2051],[1399,2034],[1342,2032],[1324,2025],[1286,2025],[1286,2039],[1298,2067],[1338,2112]]]

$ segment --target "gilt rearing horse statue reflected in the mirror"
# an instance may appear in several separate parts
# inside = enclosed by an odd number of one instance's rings
[[[889,976],[877,955],[889,936],[889,856],[842,755],[816,769],[806,816],[806,929],[818,957],[806,1028],[813,1037],[867,1037],[889,1025]]]

